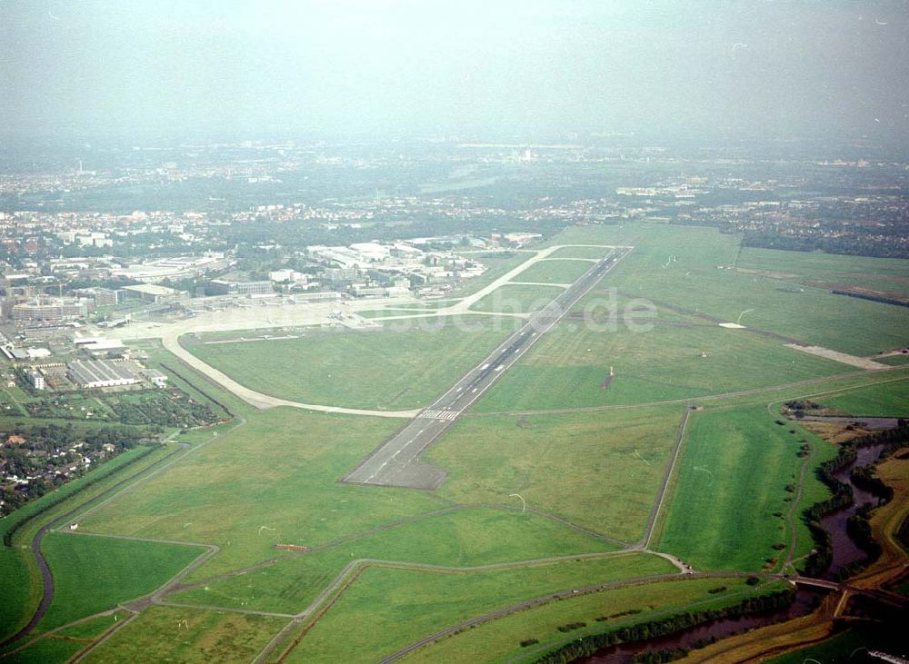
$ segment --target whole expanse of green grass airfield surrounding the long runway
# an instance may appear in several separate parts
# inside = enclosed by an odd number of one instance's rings
[[[906,308],[813,284],[878,273],[895,291],[909,271],[878,259],[741,250],[736,236],[704,228],[578,227],[550,242],[573,243],[635,246],[574,313],[583,316],[615,288],[620,313],[644,298],[655,315],[619,316],[614,330],[602,316],[597,329],[578,316],[558,323],[427,451],[425,460],[449,473],[437,491],[337,481],[405,421],[257,411],[149,344],[153,361],[179,367],[200,394],[228,405],[235,421],[177,435],[188,447],[163,471],[55,523],[44,550],[56,604],[0,661],[62,661],[82,649],[85,661],[375,661],[500,610],[501,618],[405,659],[511,659],[521,655],[522,639],[564,639],[556,628],[565,622],[600,629],[594,618],[607,612],[641,609],[626,619],[643,620],[767,590],[749,590],[735,577],[664,577],[678,573],[672,557],[695,570],[761,573],[810,550],[798,513],[826,497],[812,470],[835,449],[794,424],[776,424],[780,404],[810,397],[849,414],[905,415],[909,368],[866,372],[784,343],[860,357],[907,345]],[[606,252],[583,246],[552,255]],[[530,255],[498,259],[493,272]],[[473,331],[415,318],[412,327],[379,332],[256,342],[213,334],[184,342],[235,381],[281,398],[414,408],[514,330],[514,318],[494,315],[514,312],[502,302],[526,309],[561,292],[527,282],[570,282],[593,264],[535,263],[474,303]],[[450,304],[412,310],[433,316]],[[407,315],[406,308],[395,314]],[[635,330],[630,320],[652,324]],[[690,413],[677,439],[689,405],[703,410]],[[804,442],[810,458],[796,454]],[[793,505],[786,485],[803,475],[801,503]],[[791,522],[784,517],[790,509]],[[22,545],[58,513],[37,516],[20,548],[2,551],[8,597],[20,609],[3,609],[7,633],[37,601],[29,583],[34,560]],[[78,534],[65,528],[72,520]],[[774,549],[789,546],[793,528],[796,550]],[[634,548],[642,540],[646,549]],[[98,560],[108,561],[105,573],[115,582],[88,582],[100,578]],[[619,585],[507,612],[597,584]],[[708,593],[721,585],[726,590]]]

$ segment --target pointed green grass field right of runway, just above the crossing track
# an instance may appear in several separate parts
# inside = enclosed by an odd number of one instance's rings
[[[610,367],[615,375],[603,389]],[[613,332],[564,321],[496,383],[476,410],[694,399],[853,370],[744,330],[654,325],[636,332],[619,323]]]

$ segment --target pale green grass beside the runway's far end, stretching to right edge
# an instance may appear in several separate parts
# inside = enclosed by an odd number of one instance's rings
[[[594,239],[598,230],[572,229],[566,234]],[[735,235],[657,224],[628,224],[623,232],[636,232],[642,240],[584,301],[616,287],[627,296],[671,302],[729,322],[741,317],[749,327],[857,355],[901,348],[909,342],[909,308],[718,269],[735,263],[739,251]],[[794,255],[793,260],[797,259]]]

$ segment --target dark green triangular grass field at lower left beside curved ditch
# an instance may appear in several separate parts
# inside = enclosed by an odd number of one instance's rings
[[[42,549],[55,575],[54,601],[38,623],[42,630],[141,597],[205,553],[198,546],[55,532],[47,534]]]

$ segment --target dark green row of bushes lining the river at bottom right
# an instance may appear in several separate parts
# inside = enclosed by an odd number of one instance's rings
[[[674,616],[641,622],[637,625],[623,627],[604,634],[595,634],[583,639],[576,639],[571,643],[566,643],[559,649],[546,653],[543,657],[537,659],[536,662],[537,664],[567,664],[567,662],[588,657],[599,650],[619,643],[656,639],[667,634],[674,634],[684,629],[693,628],[711,620],[738,618],[746,614],[768,613],[776,609],[783,609],[790,606],[794,599],[794,590],[777,590],[767,595],[747,598],[724,609],[684,611]]]

